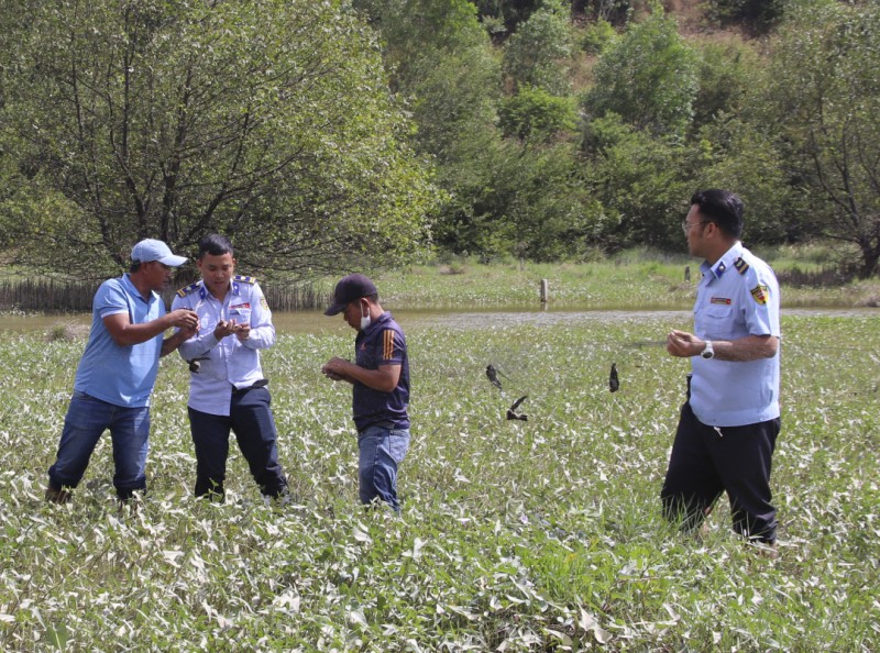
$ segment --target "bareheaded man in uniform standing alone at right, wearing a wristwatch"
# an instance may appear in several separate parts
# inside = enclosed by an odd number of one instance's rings
[[[779,284],[770,266],[739,242],[743,202],[733,192],[694,193],[682,228],[690,253],[705,261],[695,333],[672,331],[667,339],[667,351],[690,358],[693,374],[661,490],[663,512],[691,530],[726,491],[734,530],[773,546]]]

